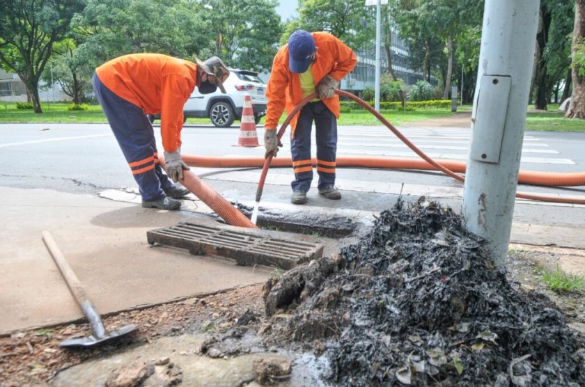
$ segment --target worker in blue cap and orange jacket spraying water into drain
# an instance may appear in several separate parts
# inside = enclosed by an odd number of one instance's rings
[[[335,189],[335,160],[337,150],[337,118],[339,97],[335,94],[339,82],[357,63],[350,47],[334,35],[325,32],[295,31],[288,44],[274,56],[268,80],[268,100],[264,125],[264,143],[267,157],[276,156],[279,143],[276,125],[286,107],[287,113],[304,97],[317,93],[318,97],[306,104],[290,126],[290,152],[295,180],[292,181],[294,204],[306,203],[306,192],[313,180],[311,165],[311,127],[315,122],[317,141],[317,173],[319,194],[329,199],[341,199]]]

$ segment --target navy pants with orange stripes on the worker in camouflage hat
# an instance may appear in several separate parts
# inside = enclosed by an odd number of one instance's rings
[[[138,183],[142,200],[150,202],[164,198],[163,189],[173,183],[158,164],[153,125],[139,106],[114,94],[97,74],[93,74],[93,90]]]

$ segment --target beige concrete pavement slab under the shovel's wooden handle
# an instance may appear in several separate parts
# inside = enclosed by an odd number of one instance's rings
[[[203,214],[46,189],[0,187],[0,197],[0,334],[84,317],[42,230],[51,232],[102,315],[260,283],[271,271],[148,244],[148,230],[212,221]]]

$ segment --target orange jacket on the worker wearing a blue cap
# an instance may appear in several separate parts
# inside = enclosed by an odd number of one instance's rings
[[[346,46],[334,35],[325,32],[313,32],[317,55],[313,61],[313,79],[315,86],[319,84],[325,75],[329,74],[341,81],[348,72],[353,70],[357,63],[357,57],[350,47]],[[266,97],[268,100],[266,109],[266,121],[264,127],[275,128],[286,107],[287,113],[299,103],[303,96],[299,74],[290,72],[288,68],[288,45],[284,45],[274,56],[272,72],[268,80]],[[339,97],[323,100],[323,103],[339,118]],[[298,113],[290,121],[292,135],[297,127]]]

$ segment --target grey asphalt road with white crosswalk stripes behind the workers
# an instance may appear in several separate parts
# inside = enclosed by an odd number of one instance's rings
[[[155,127],[155,133],[158,127]],[[469,130],[448,127],[408,127],[403,133],[424,152],[436,159],[467,159]],[[158,134],[157,134],[158,136]],[[182,132],[182,152],[205,156],[263,155],[263,147],[241,148],[237,144],[239,127],[219,129],[205,125],[187,125]],[[262,143],[263,129],[258,127]],[[340,127],[338,157],[367,155],[414,157],[391,132],[383,127]],[[159,137],[159,151],[162,152]],[[290,141],[284,139],[279,156],[290,155]],[[585,134],[526,132],[522,152],[522,170],[549,172],[585,172]],[[0,186],[45,188],[70,193],[97,194],[104,189],[135,187],[134,180],[108,125],[102,124],[0,124]],[[260,172],[240,168],[219,170],[194,168],[212,187],[231,199],[251,201],[256,193]],[[269,173],[263,200],[287,203],[290,195],[290,168]],[[316,180],[316,178],[315,178]],[[380,211],[396,203],[400,192],[416,198],[438,198],[458,209],[460,183],[436,172],[380,171],[338,168],[341,202],[316,198],[312,205]],[[315,183],[315,181],[313,182]],[[585,196],[585,187],[552,189],[519,186],[519,191]],[[310,203],[310,204],[311,204]],[[561,206],[517,202],[515,221],[552,226],[585,226],[585,206]]]

